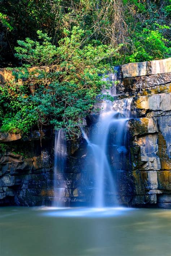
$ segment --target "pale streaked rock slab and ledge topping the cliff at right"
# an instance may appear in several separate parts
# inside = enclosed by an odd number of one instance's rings
[[[171,92],[171,58],[130,63],[120,66],[117,94],[126,97],[141,92],[144,95]]]

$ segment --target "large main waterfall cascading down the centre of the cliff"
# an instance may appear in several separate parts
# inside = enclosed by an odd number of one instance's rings
[[[115,81],[117,80],[118,67],[115,73],[110,74],[113,86],[102,91],[103,94],[114,96],[116,90]],[[108,197],[111,198],[113,205],[117,204],[116,190],[114,182],[114,171],[122,171],[119,164],[111,170],[110,151],[114,152],[113,161],[122,162],[127,153],[126,149],[126,122],[130,117],[132,99],[118,100],[117,103],[104,100],[97,123],[92,127],[90,138],[83,131],[83,137],[88,144],[88,154],[93,157],[92,170],[95,177],[94,185],[94,206],[105,207],[108,204]]]

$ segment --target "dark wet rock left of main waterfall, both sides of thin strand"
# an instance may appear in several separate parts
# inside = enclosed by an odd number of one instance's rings
[[[17,152],[16,152],[17,151]],[[86,144],[69,141],[65,174],[57,173],[63,201],[88,202],[91,175],[83,169]],[[54,196],[54,135],[40,140],[12,140],[1,144],[0,205],[52,205]],[[86,182],[85,182],[86,181]]]

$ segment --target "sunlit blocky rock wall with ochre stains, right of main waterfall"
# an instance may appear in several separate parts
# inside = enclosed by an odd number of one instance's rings
[[[164,208],[171,207],[171,76],[166,73],[170,71],[168,60],[158,64],[155,61],[151,68],[151,72],[158,74],[161,65],[163,74],[157,77],[166,79],[167,90],[158,90],[161,84],[157,80],[154,92],[150,83],[150,91],[144,88],[141,94],[134,97],[132,107],[137,109],[136,118],[128,122],[134,193],[137,198],[135,204],[153,203]],[[164,63],[167,63],[166,69]],[[152,76],[139,77],[137,81],[148,81]],[[142,196],[145,196],[143,202]]]

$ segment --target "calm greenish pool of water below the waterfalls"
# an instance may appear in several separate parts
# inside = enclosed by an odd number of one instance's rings
[[[1,207],[0,256],[170,256],[171,211]]]

